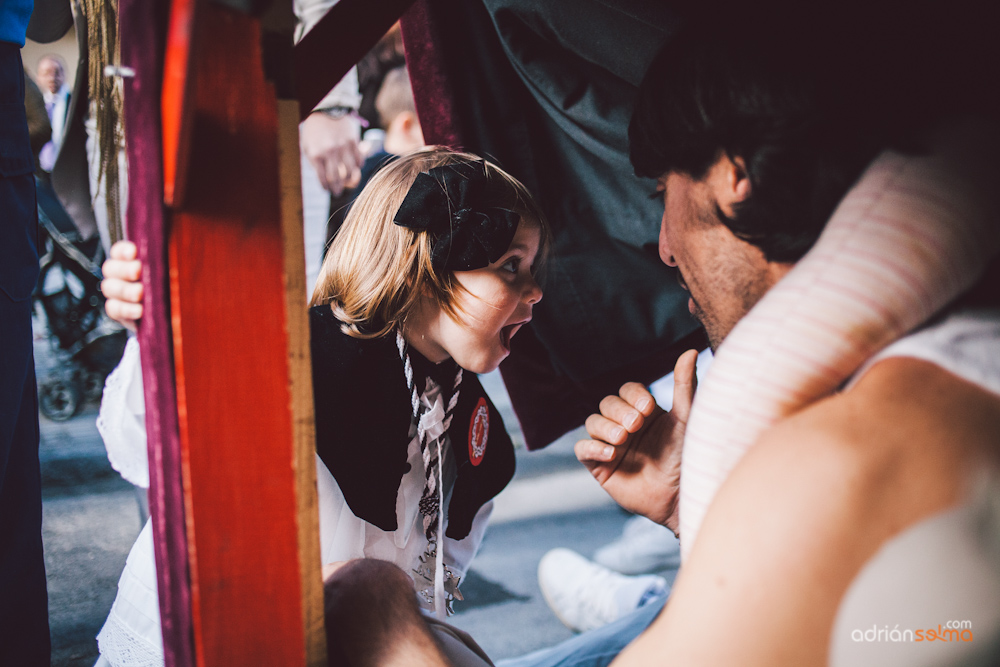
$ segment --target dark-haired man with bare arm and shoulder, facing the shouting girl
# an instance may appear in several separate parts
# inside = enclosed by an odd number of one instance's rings
[[[929,81],[922,90],[890,85],[891,62],[872,60],[868,71],[834,62],[822,35],[810,33],[807,45],[801,33],[708,28],[688,31],[654,60],[629,134],[636,172],[657,178],[665,200],[660,256],[678,268],[713,348],[813,247],[882,150],[935,155],[967,142],[963,177],[995,178],[983,148],[997,146],[995,127],[973,123],[972,141],[934,134],[962,127],[949,122],[951,105],[976,111],[975,100],[934,100],[941,87]],[[882,101],[859,95],[879,85],[890,93]],[[920,97],[920,114],[898,115]],[[995,251],[995,228],[982,241]],[[893,261],[894,248],[870,250]],[[869,261],[879,259],[858,257]],[[1000,311],[991,279],[879,353],[846,390],[767,429],[728,479],[722,474],[665,612],[622,664],[828,660],[841,601],[866,562],[905,529],[967,506],[972,471],[996,475]],[[854,298],[882,307],[880,296]],[[693,380],[693,367],[683,371]],[[593,440],[577,445],[616,500],[675,531],[689,406],[666,413],[643,387],[625,385],[588,420]],[[994,606],[995,579],[980,584]],[[958,595],[970,615],[981,614],[984,632],[996,631],[972,601],[978,592]]]

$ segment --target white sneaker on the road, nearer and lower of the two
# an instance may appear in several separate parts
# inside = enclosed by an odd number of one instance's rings
[[[665,594],[663,577],[626,577],[575,551],[553,549],[538,563],[538,587],[562,624],[584,632],[636,610],[650,594]]]

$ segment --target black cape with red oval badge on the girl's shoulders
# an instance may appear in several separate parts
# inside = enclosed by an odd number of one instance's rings
[[[355,516],[382,530],[396,530],[396,494],[409,467],[412,410],[395,338],[352,338],[341,331],[329,306],[310,308],[309,323],[316,452]],[[454,362],[435,366],[413,348],[409,354],[417,387],[424,386],[425,374],[441,387],[450,387],[457,368]],[[482,451],[480,434],[487,413]],[[514,446],[503,420],[473,373],[464,374],[448,435],[457,478],[445,535],[460,540],[472,529],[479,508],[510,482],[515,466]],[[476,456],[480,451],[481,458]]]

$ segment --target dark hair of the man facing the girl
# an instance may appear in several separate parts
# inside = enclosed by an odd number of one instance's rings
[[[720,153],[738,157],[753,197],[716,214],[769,261],[795,262],[876,147],[823,98],[809,51],[718,30],[687,30],[651,63],[629,127],[632,165],[700,181]]]

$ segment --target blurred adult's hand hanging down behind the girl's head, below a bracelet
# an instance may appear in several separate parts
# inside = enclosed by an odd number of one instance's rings
[[[361,126],[349,115],[331,118],[314,111],[299,126],[299,145],[319,181],[334,196],[361,181]]]

